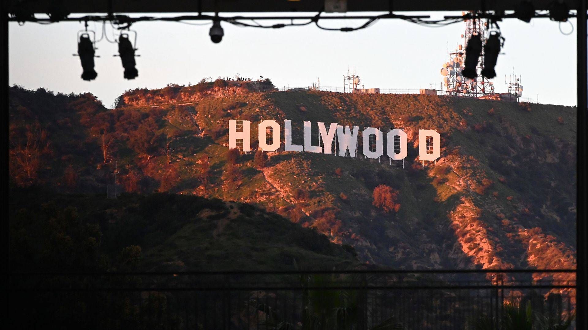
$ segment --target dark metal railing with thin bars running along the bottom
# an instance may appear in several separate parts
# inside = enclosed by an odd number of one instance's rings
[[[510,303],[564,319],[574,270],[12,274],[10,328],[473,329]],[[34,316],[34,317],[31,317]]]

